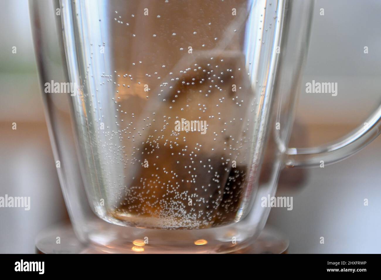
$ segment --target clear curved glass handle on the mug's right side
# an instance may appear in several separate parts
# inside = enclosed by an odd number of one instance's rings
[[[381,133],[381,104],[370,117],[351,133],[338,140],[311,148],[288,148],[286,167],[329,165],[355,154]]]

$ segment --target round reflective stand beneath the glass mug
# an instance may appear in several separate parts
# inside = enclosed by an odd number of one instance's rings
[[[58,238],[59,237],[59,238]],[[194,240],[192,242],[157,244],[145,243],[144,239],[113,242],[82,243],[76,237],[71,224],[54,226],[38,234],[35,242],[38,254],[109,254],[109,253],[234,253],[234,254],[286,254],[289,241],[274,227],[266,225],[258,238],[234,243],[218,240]]]

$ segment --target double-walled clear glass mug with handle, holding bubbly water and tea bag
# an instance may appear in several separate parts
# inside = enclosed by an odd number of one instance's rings
[[[380,133],[378,108],[335,143],[288,148],[313,4],[30,1],[54,164],[82,242],[245,248],[282,168],[337,162]]]

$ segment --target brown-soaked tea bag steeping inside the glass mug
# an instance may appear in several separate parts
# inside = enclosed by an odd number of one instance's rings
[[[234,220],[247,172],[242,134],[250,85],[238,52],[220,52],[207,63],[209,56],[197,61],[198,71],[184,71],[166,101],[155,108],[141,166],[115,218],[176,229]],[[234,86],[237,91],[232,91]],[[200,126],[200,131],[176,131],[176,121],[182,120],[206,121],[205,134]]]

